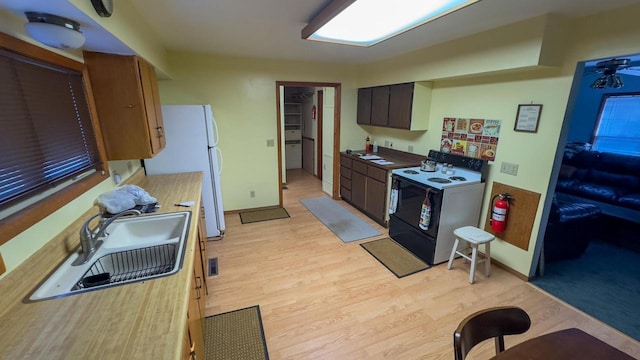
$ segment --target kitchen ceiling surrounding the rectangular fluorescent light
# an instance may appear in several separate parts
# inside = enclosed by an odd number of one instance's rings
[[[573,18],[639,2],[482,0],[380,44],[362,48],[300,38],[302,28],[329,0],[123,1],[133,4],[143,18],[140,26],[150,27],[170,50],[347,64],[383,60],[546,13]],[[117,16],[120,2],[114,3]],[[0,9],[23,18],[28,10],[66,16],[81,23],[87,37],[85,49],[131,51],[67,0],[0,0]]]

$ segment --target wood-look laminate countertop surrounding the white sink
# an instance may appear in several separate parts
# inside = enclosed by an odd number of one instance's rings
[[[202,173],[131,177],[158,199],[157,213],[195,201],[182,269],[171,276],[25,303],[79,245],[78,230],[96,207],[0,280],[0,359],[180,359],[200,217]]]

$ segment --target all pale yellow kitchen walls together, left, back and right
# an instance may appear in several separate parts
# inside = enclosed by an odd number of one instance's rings
[[[603,16],[566,21],[543,16],[502,29],[476,34],[412,54],[361,67],[229,58],[193,53],[166,53],[140,24],[135,11],[103,19],[93,15],[88,2],[70,0],[128,46],[151,61],[171,80],[161,81],[164,104],[213,106],[220,126],[220,147],[225,162],[222,174],[225,210],[275,205],[278,202],[277,148],[266,141],[276,139],[275,82],[317,81],[342,84],[340,149],[362,149],[370,134],[383,145],[426,154],[438,147],[444,116],[483,117],[503,121],[500,148],[487,185],[499,181],[539,192],[531,246],[523,251],[496,241],[493,255],[523,274],[531,273],[534,245],[542,208],[560,138],[565,107],[577,61],[640,53],[640,6],[612,11]],[[122,4],[121,4],[122,5]],[[0,17],[2,17],[0,12]],[[18,21],[0,28],[11,33]],[[594,26],[597,24],[597,26]],[[548,66],[560,65],[557,68]],[[445,80],[448,79],[448,80]],[[358,87],[404,81],[433,82],[430,131],[388,130],[356,125]],[[537,133],[513,132],[517,105],[544,105]],[[520,165],[517,176],[496,170],[500,162]],[[136,164],[137,166],[137,164]],[[110,167],[126,171],[123,163]],[[113,187],[111,180],[61,209],[9,243],[0,247],[9,270],[76,219],[93,199]],[[249,198],[254,190],[256,197]],[[485,199],[484,211],[489,199]],[[60,214],[59,214],[60,213]],[[36,240],[34,240],[36,239]]]

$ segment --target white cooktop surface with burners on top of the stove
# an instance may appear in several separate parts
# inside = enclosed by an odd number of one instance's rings
[[[440,168],[437,171],[422,171],[419,166],[394,169],[391,173],[439,190],[477,184],[482,179],[480,172],[458,167],[453,168],[453,174],[443,174]]]

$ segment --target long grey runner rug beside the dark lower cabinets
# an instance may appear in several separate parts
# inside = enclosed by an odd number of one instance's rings
[[[382,235],[381,232],[342,207],[337,201],[326,196],[302,199],[300,203],[343,242]]]

